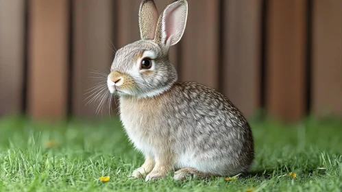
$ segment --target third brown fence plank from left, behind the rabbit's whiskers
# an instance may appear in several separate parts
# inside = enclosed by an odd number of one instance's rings
[[[73,3],[73,114],[96,117],[100,99],[86,105],[96,95],[92,95],[94,92],[86,93],[90,91],[88,88],[99,85],[99,82],[105,85],[100,94],[108,92],[106,77],[97,71],[108,74],[114,58],[110,43],[113,41],[112,26],[115,25],[114,5],[111,0],[74,0]],[[99,116],[109,115],[107,101],[101,109]]]

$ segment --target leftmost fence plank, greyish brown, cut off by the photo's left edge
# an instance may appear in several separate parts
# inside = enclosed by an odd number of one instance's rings
[[[25,1],[0,1],[0,116],[21,112]]]

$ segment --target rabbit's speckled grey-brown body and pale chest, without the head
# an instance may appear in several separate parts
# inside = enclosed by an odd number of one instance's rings
[[[245,117],[226,97],[200,84],[176,82],[155,97],[121,95],[120,117],[145,164],[164,167],[160,176],[182,168],[233,176],[247,171],[254,158]],[[150,168],[140,168],[152,171],[147,179],[158,175]]]

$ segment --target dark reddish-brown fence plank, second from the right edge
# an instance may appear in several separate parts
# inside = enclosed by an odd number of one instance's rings
[[[280,119],[305,115],[305,0],[271,0],[267,18],[266,105]]]

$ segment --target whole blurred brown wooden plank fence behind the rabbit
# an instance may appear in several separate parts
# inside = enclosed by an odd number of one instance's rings
[[[155,2],[161,12],[169,0]],[[83,95],[97,83],[89,72],[109,72],[112,43],[140,38],[140,3],[0,0],[0,117],[96,117],[98,103],[86,106]],[[170,52],[181,82],[217,88],[248,117],[260,108],[291,121],[342,116],[342,0],[188,6],[186,32]]]

